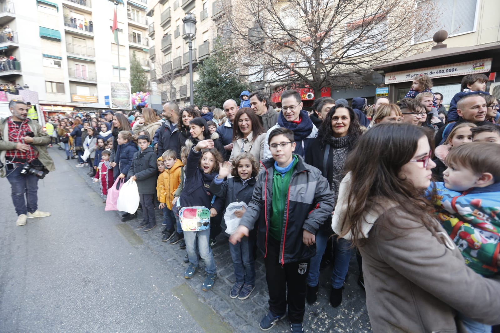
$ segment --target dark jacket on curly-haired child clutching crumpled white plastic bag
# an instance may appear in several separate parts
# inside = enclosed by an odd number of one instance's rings
[[[217,197],[225,198],[224,207],[227,207],[232,202],[241,201],[248,205],[251,200],[254,188],[255,177],[248,179],[244,184],[239,177],[229,178],[227,180],[224,180],[220,184],[215,184],[215,182],[212,180],[212,183],[210,184],[210,192],[212,192]],[[225,214],[225,208],[222,213]],[[255,227],[253,228],[253,234],[256,234],[256,225],[257,224],[255,224]],[[222,230],[227,229],[224,219],[222,219],[221,226]]]

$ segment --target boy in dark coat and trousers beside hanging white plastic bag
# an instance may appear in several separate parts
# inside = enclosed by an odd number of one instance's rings
[[[144,231],[156,227],[153,204],[153,194],[156,194],[156,153],[149,146],[150,143],[151,140],[147,134],[137,137],[137,145],[140,150],[133,154],[132,163],[127,174],[131,180],[137,182],[139,202],[144,215],[144,220],[137,227],[144,228]]]

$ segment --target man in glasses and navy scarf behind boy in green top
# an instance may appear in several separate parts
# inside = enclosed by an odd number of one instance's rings
[[[304,158],[307,148],[316,137],[317,128],[310,120],[307,111],[302,110],[302,99],[296,90],[285,90],[281,94],[281,112],[277,123],[265,135],[264,160],[272,157],[268,145],[269,133],[279,127],[293,132],[296,143],[294,153]]]

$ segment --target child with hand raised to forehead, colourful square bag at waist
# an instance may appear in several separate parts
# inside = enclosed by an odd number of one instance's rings
[[[208,129],[207,129],[208,130]],[[223,209],[223,199],[214,197],[210,192],[210,183],[217,175],[216,172],[219,168],[219,163],[222,162],[222,157],[217,149],[214,148],[213,141],[206,139],[199,141],[189,151],[187,156],[187,164],[185,170],[185,182],[182,193],[177,201],[179,208],[179,216],[181,224],[186,223],[183,220],[180,212],[185,210],[186,207],[196,207],[197,209],[209,209],[209,217],[215,217]],[[208,215],[208,214],[206,214]],[[205,226],[203,224],[203,226]],[[205,264],[206,278],[201,286],[201,290],[208,291],[213,287],[213,283],[217,278],[215,262],[213,261],[213,254],[209,246],[210,227],[203,230],[186,231],[182,226],[184,232],[184,241],[186,245],[187,255],[189,258],[189,266],[184,272],[184,278],[190,279],[194,273],[200,269],[198,263],[198,256],[203,259]],[[196,228],[197,229],[197,228]]]

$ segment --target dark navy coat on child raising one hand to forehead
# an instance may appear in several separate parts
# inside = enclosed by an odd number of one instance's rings
[[[224,198],[216,197],[211,203],[213,194],[210,191],[210,184],[216,172],[204,173],[199,164],[201,151],[191,148],[187,156],[184,187],[179,197],[181,207],[204,206],[208,209],[215,208],[217,214],[222,214],[224,209]]]

